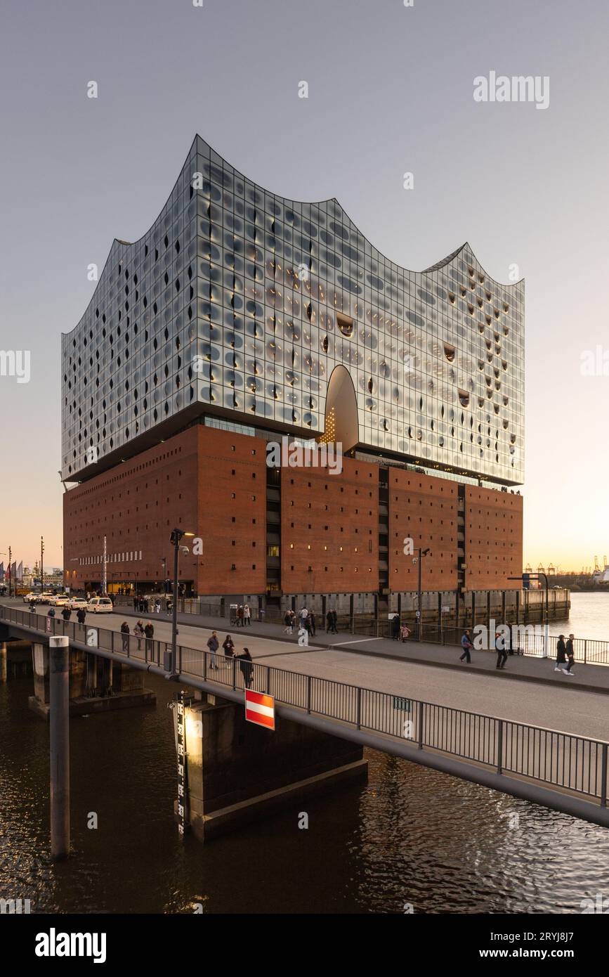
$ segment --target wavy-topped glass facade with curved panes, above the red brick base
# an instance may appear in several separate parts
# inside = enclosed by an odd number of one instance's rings
[[[196,137],[155,224],[113,242],[61,338],[62,477],[198,406],[319,436],[342,364],[362,447],[519,485],[523,330],[524,283],[490,278],[467,244],[409,272],[336,199],[265,191]]]

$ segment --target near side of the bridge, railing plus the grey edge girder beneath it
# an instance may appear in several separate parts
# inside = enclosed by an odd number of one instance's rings
[[[79,651],[167,675],[167,642],[98,627],[97,619],[78,624],[0,605],[0,625],[36,643],[67,635]],[[292,722],[609,827],[605,741],[256,660],[252,670],[251,688],[272,696],[277,714]],[[234,658],[179,646],[178,671],[184,686],[244,701],[243,674]]]

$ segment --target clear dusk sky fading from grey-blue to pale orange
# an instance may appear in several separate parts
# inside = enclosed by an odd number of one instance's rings
[[[265,188],[336,196],[405,268],[466,240],[499,281],[518,266],[524,562],[602,561],[608,30],[606,0],[0,0],[0,351],[29,353],[28,382],[26,360],[0,375],[0,561],[33,564],[43,534],[62,565],[61,332],[196,132]],[[475,101],[491,72],[547,106]]]

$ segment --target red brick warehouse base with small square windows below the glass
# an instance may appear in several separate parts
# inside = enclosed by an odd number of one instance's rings
[[[427,592],[517,588],[509,577],[522,568],[520,495],[382,459],[345,457],[340,474],[267,468],[263,432],[251,430],[195,423],[66,491],[65,584],[99,589],[105,535],[113,592],[161,590],[179,526],[200,538],[180,559],[188,595],[265,595],[285,605],[282,595],[335,594],[352,596],[362,613],[375,598],[389,611],[392,595],[418,587],[406,538],[430,549]]]

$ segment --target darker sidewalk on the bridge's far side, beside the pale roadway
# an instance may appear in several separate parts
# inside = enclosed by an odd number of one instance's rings
[[[115,610],[117,615],[125,617],[142,617],[133,608],[118,607]],[[153,622],[169,621],[167,615],[148,614]],[[294,646],[295,652],[304,652],[305,649],[298,645],[296,634],[289,636],[285,633],[283,624],[267,623],[266,621],[253,621],[251,625],[245,627],[230,626],[225,617],[179,614],[178,626],[187,625],[188,627],[201,627],[218,631],[220,635],[231,634],[233,640],[237,638],[245,640],[245,635],[257,638],[270,638],[274,641],[281,641]],[[186,644],[184,636],[179,636],[179,644]],[[221,644],[223,637],[221,638]],[[376,656],[388,658],[395,661],[409,661],[413,664],[431,665],[440,668],[453,668],[461,672],[483,672],[488,676],[496,677],[501,681],[507,675],[510,678],[517,678],[524,682],[543,682],[548,685],[571,686],[588,692],[609,694],[609,666],[606,665],[585,665],[576,662],[572,678],[564,675],[562,671],[554,671],[554,662],[550,658],[536,658],[529,655],[508,656],[507,665],[503,671],[496,668],[497,657],[495,652],[472,652],[471,664],[467,665],[459,660],[461,648],[457,645],[437,645],[430,642],[408,641],[406,643],[393,641],[390,638],[371,638],[363,634],[348,634],[346,631],[339,631],[338,634],[329,634],[325,631],[317,631],[314,637],[309,639],[312,648],[332,649],[337,652],[349,652],[354,655]]]

